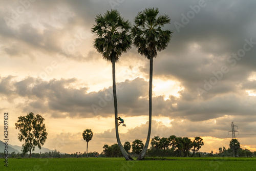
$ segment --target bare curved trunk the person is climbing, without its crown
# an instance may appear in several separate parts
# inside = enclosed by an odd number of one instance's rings
[[[113,97],[114,97],[114,108],[115,108],[115,128],[116,128],[116,140],[118,143],[118,146],[120,148],[120,151],[123,155],[123,157],[126,160],[133,160],[133,158],[127,154],[125,149],[122,146],[122,143],[119,138],[119,133],[118,133],[118,120],[116,119],[117,116],[117,97],[116,97],[116,67],[115,67],[116,59],[114,53],[112,53],[112,78],[113,78]]]

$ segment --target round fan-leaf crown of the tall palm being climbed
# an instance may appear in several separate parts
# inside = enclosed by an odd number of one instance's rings
[[[97,15],[95,22],[92,28],[92,33],[98,37],[94,41],[95,49],[104,59],[112,62],[114,54],[115,61],[118,61],[121,54],[132,47],[132,36],[129,35],[131,23],[122,18],[117,10]]]

